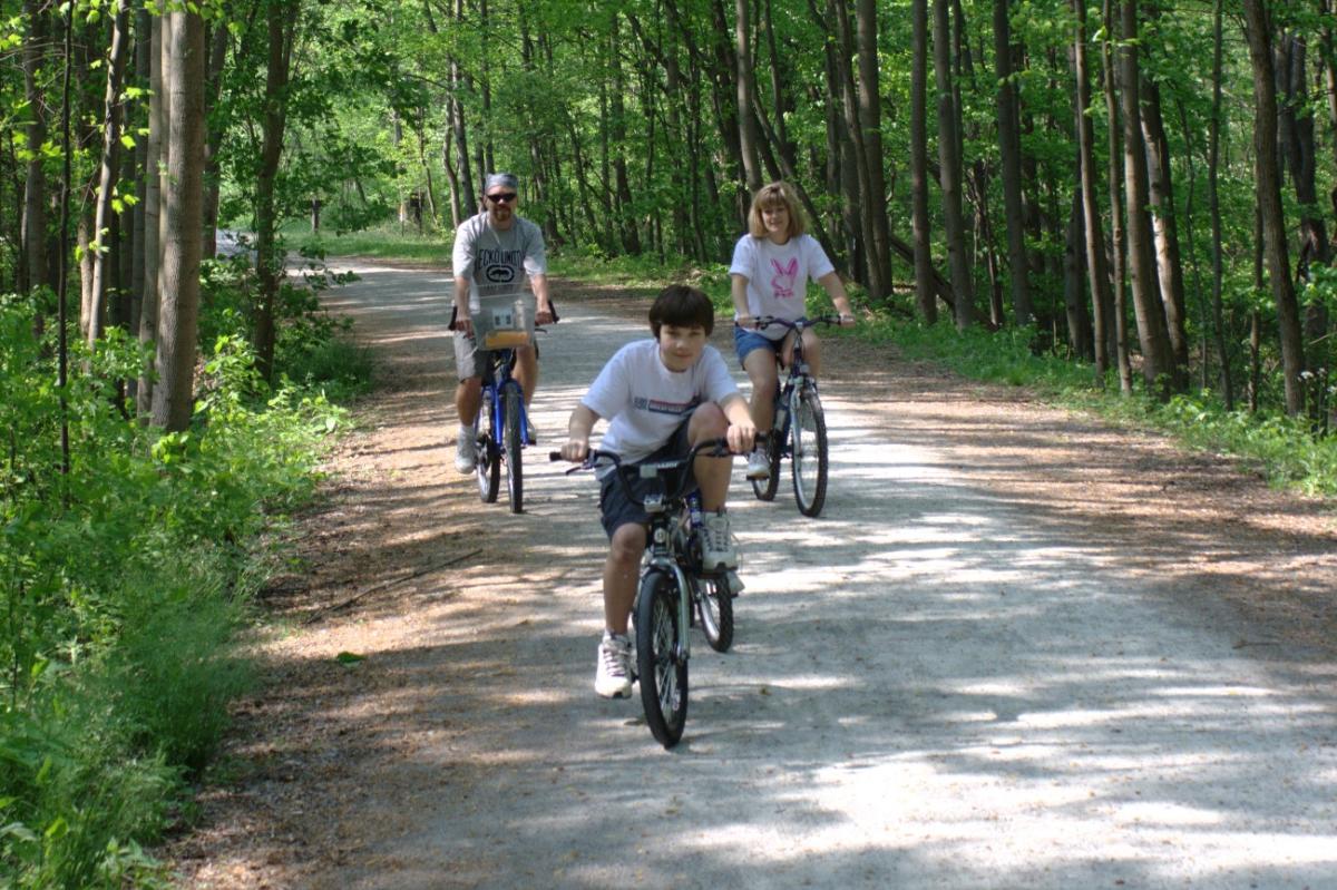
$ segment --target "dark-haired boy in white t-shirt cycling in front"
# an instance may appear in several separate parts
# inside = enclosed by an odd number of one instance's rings
[[[735,454],[747,453],[757,428],[719,350],[706,343],[714,323],[715,310],[706,294],[685,285],[666,287],[650,307],[655,338],[628,343],[608,359],[571,413],[562,457],[584,460],[590,433],[600,418],[610,421],[600,450],[618,453],[627,465],[683,457],[694,444],[718,437],[726,437]],[[731,461],[705,456],[690,468],[705,512],[702,563],[707,569],[738,565],[725,512],[731,469]],[[603,567],[604,632],[595,672],[595,691],[604,698],[631,695],[627,619],[648,521],[644,509],[627,498],[615,472],[611,466],[600,472],[599,490],[610,541]],[[627,481],[635,497],[644,494],[643,480]]]

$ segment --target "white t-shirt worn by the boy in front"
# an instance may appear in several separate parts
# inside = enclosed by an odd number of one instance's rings
[[[608,359],[580,404],[610,421],[600,450],[635,462],[663,448],[698,405],[737,392],[714,346],[707,345],[686,370],[673,372],[659,357],[659,342],[640,339]]]

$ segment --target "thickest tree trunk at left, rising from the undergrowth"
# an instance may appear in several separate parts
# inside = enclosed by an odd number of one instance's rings
[[[199,13],[172,12],[168,187],[163,200],[167,242],[163,250],[163,302],[158,325],[158,369],[152,422],[168,432],[190,425],[194,394],[195,335],[199,318],[199,259],[205,168],[205,21]]]

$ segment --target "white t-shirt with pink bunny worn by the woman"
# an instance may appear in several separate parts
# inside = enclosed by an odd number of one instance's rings
[[[747,313],[753,318],[775,315],[787,321],[804,315],[809,279],[818,281],[833,271],[826,251],[812,235],[798,235],[783,245],[743,235],[734,245],[734,261],[729,265],[730,275],[747,279]],[[777,325],[759,333],[781,339],[789,330]]]

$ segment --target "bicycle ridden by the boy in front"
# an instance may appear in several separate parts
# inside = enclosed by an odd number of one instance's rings
[[[650,732],[666,748],[678,744],[687,724],[687,628],[697,621],[710,648],[725,652],[734,641],[734,596],[741,589],[733,571],[705,571],[701,559],[701,493],[687,492],[687,472],[698,454],[729,457],[729,441],[711,438],[693,445],[681,458],[622,465],[612,452],[591,450],[567,473],[611,464],[627,498],[650,516],[646,556],[631,608],[635,625],[632,679],[640,682],[640,704]],[[550,460],[562,454],[551,452]],[[636,498],[627,481],[636,473],[651,482]]]

